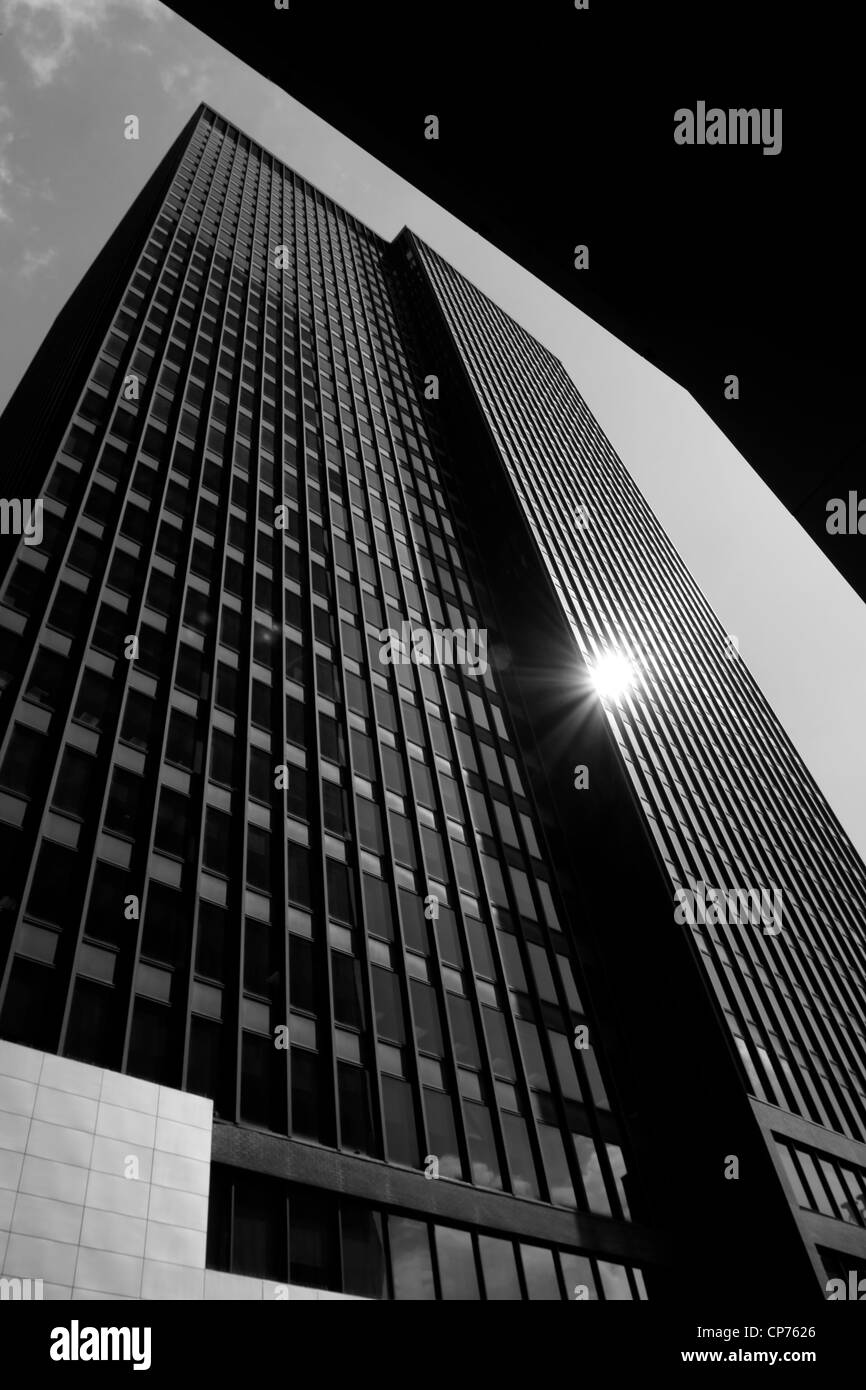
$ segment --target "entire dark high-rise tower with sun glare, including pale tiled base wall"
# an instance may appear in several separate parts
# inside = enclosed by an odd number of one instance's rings
[[[860,1268],[863,867],[545,349],[200,107],[0,430],[6,1277]]]

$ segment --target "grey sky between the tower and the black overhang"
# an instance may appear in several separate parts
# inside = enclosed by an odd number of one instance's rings
[[[676,382],[158,0],[0,0],[0,410],[199,101],[379,235],[411,227],[563,360],[866,858],[853,589]]]

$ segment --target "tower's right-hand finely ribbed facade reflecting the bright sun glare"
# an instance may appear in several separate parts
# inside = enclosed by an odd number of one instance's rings
[[[609,730],[815,1272],[859,1268],[863,863],[562,363],[420,238],[400,240],[584,667],[628,663]],[[713,910],[708,890],[763,890],[766,919],[744,924],[737,898]]]

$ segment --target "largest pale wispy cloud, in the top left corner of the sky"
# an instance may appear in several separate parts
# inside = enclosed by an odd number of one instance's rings
[[[165,14],[158,0],[0,0],[3,26],[38,86],[54,79],[82,35],[99,33],[120,11],[150,21]]]

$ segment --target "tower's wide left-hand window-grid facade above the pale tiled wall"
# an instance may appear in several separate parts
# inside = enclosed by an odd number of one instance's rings
[[[498,671],[384,655],[484,627],[386,245],[207,107],[165,181],[0,588],[0,1036],[213,1098],[214,1268],[645,1298]]]

